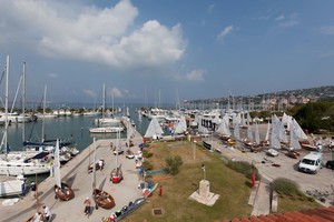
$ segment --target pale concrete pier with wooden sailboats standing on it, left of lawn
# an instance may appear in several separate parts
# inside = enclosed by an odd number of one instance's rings
[[[124,120],[127,122],[127,120]],[[125,124],[131,127],[131,124]],[[132,127],[131,127],[132,128]],[[141,135],[132,131],[132,151],[138,151],[138,144],[143,142]],[[61,222],[72,221],[101,221],[102,216],[109,216],[130,201],[141,196],[141,190],[138,184],[143,182],[143,178],[138,174],[135,160],[126,159],[125,154],[118,157],[118,163],[121,163],[124,180],[114,184],[110,181],[110,172],[116,168],[116,155],[110,149],[110,142],[116,144],[115,139],[97,140],[96,144],[90,144],[82,150],[77,157],[70,160],[61,168],[62,181],[71,185],[75,198],[70,201],[60,201],[55,199],[53,185],[55,179],[49,176],[43,182],[38,184],[38,205],[48,205],[51,211],[51,220]],[[127,140],[121,139],[124,149]],[[92,211],[89,219],[84,213],[84,201],[86,198],[91,198],[92,193],[92,173],[88,173],[88,165],[92,162],[94,147],[96,145],[96,159],[105,160],[105,168],[96,172],[96,186],[110,193],[115,199],[116,206],[110,210],[99,208]],[[3,206],[0,204],[0,218],[3,222],[27,221],[37,212],[37,200],[33,198],[33,192],[28,193],[22,200],[14,205]]]

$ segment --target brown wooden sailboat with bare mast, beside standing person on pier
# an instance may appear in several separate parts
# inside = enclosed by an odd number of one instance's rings
[[[102,191],[101,189],[96,188],[96,141],[94,138],[94,158],[92,158],[92,198],[96,202],[96,209],[99,206],[104,209],[111,209],[115,206],[115,200],[110,195],[110,193],[107,193],[106,191]]]

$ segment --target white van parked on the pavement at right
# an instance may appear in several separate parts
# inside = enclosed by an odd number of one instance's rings
[[[323,160],[323,153],[311,152],[299,161],[298,170],[306,173],[316,174],[322,168]]]

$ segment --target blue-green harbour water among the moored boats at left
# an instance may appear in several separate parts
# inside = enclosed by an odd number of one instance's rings
[[[149,120],[147,118],[139,120],[137,110],[140,107],[140,104],[129,105],[129,118],[135,122],[136,130],[144,135]],[[118,114],[121,115],[122,112]],[[12,123],[8,127],[8,145],[11,151],[21,151],[23,141],[41,142],[45,138],[45,140],[73,140],[77,149],[84,150],[92,143],[94,138],[116,139],[116,133],[89,133],[89,128],[94,125],[97,118],[101,115],[46,118],[43,121]],[[3,131],[4,127],[0,127],[0,130]],[[126,131],[120,137],[126,138]]]

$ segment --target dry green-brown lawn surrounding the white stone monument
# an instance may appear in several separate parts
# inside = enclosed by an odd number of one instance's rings
[[[125,221],[214,221],[248,216],[252,206],[247,204],[250,189],[246,185],[247,179],[226,168],[216,153],[210,153],[202,147],[196,149],[196,159],[191,144],[184,141],[153,143],[150,158],[155,170],[165,167],[165,158],[180,155],[184,164],[175,176],[156,175],[154,181],[163,185],[163,196],[159,188],[148,202]],[[213,206],[207,206],[188,196],[198,189],[204,178],[202,164],[205,164],[206,180],[210,182],[210,192],[220,198]],[[154,216],[153,209],[163,209],[163,215]]]

